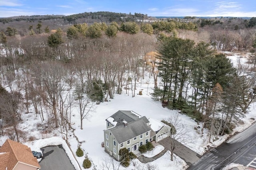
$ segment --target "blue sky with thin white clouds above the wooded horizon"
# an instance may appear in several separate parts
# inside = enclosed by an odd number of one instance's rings
[[[256,17],[256,0],[0,0],[0,17],[97,11],[148,16]]]

